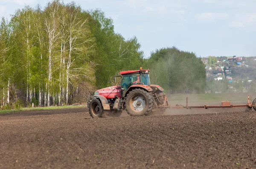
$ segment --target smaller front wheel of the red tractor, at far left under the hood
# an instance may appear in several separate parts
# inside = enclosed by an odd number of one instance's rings
[[[89,104],[89,113],[92,118],[100,118],[104,114],[103,106],[98,99],[93,99]]]

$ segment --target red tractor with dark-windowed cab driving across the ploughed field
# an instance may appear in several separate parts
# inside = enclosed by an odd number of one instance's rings
[[[128,70],[118,75],[122,78],[121,85],[97,90],[88,101],[89,113],[92,118],[102,117],[110,111],[116,116],[122,110],[131,116],[149,115],[154,111],[163,113],[169,108],[166,94],[158,85],[151,85],[149,70]],[[115,76],[115,80],[116,80]]]

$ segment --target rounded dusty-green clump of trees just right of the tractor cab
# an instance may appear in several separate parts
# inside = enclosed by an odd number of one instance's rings
[[[151,53],[144,67],[151,69],[151,83],[171,93],[203,92],[206,85],[204,64],[195,54],[177,48],[162,48]]]

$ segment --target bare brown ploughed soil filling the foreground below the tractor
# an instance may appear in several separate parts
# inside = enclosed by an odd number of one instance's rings
[[[254,111],[91,119],[85,110],[0,115],[0,168],[256,168]]]

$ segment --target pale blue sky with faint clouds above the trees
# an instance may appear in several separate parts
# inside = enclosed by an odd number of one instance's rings
[[[145,57],[172,46],[198,57],[256,56],[256,0],[74,1],[85,10],[101,8],[116,32],[138,38]],[[47,2],[0,0],[0,16],[10,18],[17,8]]]

